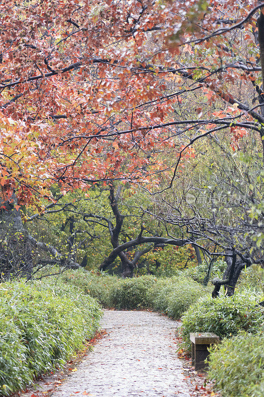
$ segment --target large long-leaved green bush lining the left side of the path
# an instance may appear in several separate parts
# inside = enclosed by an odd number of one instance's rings
[[[99,325],[98,303],[77,288],[49,282],[0,285],[0,395],[61,365]]]

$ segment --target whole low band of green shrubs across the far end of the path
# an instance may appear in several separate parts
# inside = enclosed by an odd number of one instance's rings
[[[156,278],[144,275],[121,279],[106,273],[98,275],[68,270],[62,274],[61,281],[73,283],[105,307],[152,308],[173,319],[178,319],[192,303],[209,292],[208,288],[183,276]]]

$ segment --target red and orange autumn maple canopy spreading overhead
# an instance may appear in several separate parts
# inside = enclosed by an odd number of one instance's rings
[[[215,132],[228,131],[234,152],[254,135],[263,159],[263,6],[1,2],[3,216],[19,217],[21,205],[43,211],[42,198],[56,202],[54,183],[61,194],[98,183],[172,187]]]

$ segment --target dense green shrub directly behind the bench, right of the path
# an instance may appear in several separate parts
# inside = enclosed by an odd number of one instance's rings
[[[185,347],[190,349],[190,332],[214,332],[223,338],[240,330],[257,332],[264,323],[263,308],[255,295],[236,294],[216,299],[206,297],[192,305],[182,317]]]

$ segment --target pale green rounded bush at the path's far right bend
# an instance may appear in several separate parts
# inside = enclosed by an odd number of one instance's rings
[[[207,293],[191,278],[161,279],[148,292],[149,305],[173,319],[178,319],[189,306]]]

